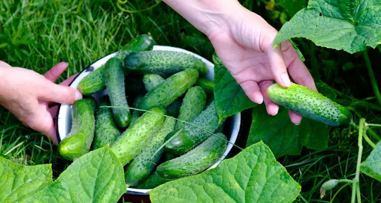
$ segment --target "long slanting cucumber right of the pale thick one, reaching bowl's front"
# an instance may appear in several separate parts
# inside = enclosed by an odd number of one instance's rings
[[[156,163],[162,157],[163,150],[156,153],[151,161],[150,158],[156,150],[163,145],[165,137],[168,133],[174,130],[175,124],[175,119],[166,118],[163,125],[156,134],[154,134],[146,147],[144,147],[140,154],[127,166],[124,173],[127,185],[136,186],[153,172]]]

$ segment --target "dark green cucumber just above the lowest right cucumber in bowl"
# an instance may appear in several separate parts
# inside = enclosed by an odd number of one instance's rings
[[[225,120],[223,120],[223,122],[224,121]],[[223,122],[221,122],[221,124]],[[201,114],[189,123],[199,128],[185,124],[185,126],[178,131],[178,135],[166,145],[165,150],[168,153],[182,155],[210,137],[211,134],[209,132],[214,132],[221,125],[218,124],[215,102],[213,101]],[[167,140],[169,136],[172,137],[174,134],[174,132],[168,134]]]

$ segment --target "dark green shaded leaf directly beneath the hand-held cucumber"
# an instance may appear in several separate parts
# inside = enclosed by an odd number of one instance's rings
[[[246,147],[263,141],[275,157],[299,155],[302,147],[320,150],[328,146],[328,126],[303,118],[300,125],[291,122],[287,109],[280,107],[275,116],[268,115],[264,105],[252,110],[252,123]]]

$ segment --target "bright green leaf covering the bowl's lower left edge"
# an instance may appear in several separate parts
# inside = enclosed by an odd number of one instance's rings
[[[22,202],[117,202],[126,188],[123,167],[106,146],[78,158],[51,185]]]

